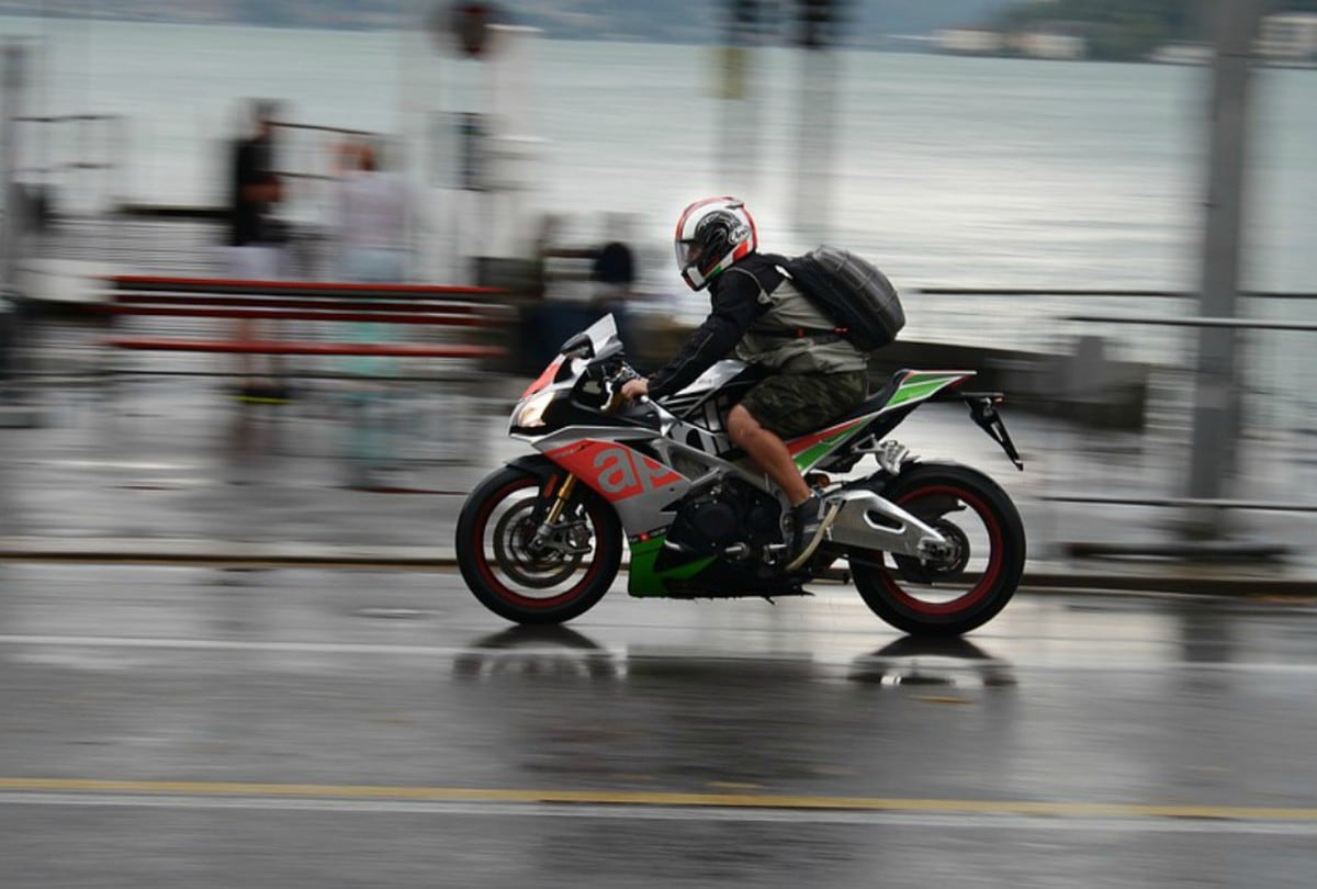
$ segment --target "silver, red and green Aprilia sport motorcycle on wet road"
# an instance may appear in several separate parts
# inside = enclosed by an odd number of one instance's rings
[[[972,370],[901,370],[849,415],[786,441],[820,493],[817,549],[792,553],[790,504],[732,445],[726,415],[759,374],[724,360],[681,392],[627,402],[611,315],[569,338],[512,410],[508,433],[539,453],[485,478],[457,522],[457,561],[475,597],[520,624],[593,607],[630,551],[641,598],[807,595],[848,564],[860,598],[907,633],[955,636],[1010,601],[1025,529],[1006,493],[954,462],[925,462],[886,436],[919,406],[959,400],[1015,464],[1000,392],[961,392]],[[856,473],[868,456],[877,470]]]

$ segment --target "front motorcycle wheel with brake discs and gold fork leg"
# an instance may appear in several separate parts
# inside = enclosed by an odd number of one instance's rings
[[[457,518],[457,565],[475,598],[515,623],[562,623],[608,591],[622,564],[612,508],[578,486],[552,533],[540,478],[511,466],[471,491]]]

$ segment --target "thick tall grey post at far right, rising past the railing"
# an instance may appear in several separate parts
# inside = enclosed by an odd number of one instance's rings
[[[1198,313],[1234,317],[1239,291],[1239,223],[1247,149],[1249,68],[1266,0],[1218,0],[1217,51],[1212,80],[1206,225]],[[1217,499],[1234,474],[1239,431],[1237,333],[1205,327],[1198,332],[1189,497]],[[1220,510],[1192,508],[1187,529],[1197,536],[1222,532]]]

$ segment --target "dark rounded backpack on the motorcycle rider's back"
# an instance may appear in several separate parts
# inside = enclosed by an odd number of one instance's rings
[[[788,259],[785,271],[861,352],[881,349],[905,327],[901,296],[886,275],[849,250],[819,246]]]

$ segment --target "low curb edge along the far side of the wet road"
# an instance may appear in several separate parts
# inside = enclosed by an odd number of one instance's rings
[[[228,568],[374,568],[453,570],[450,548],[338,547],[316,543],[244,543],[213,540],[125,540],[105,537],[0,537],[0,562],[87,565],[178,565]],[[1220,566],[1218,566],[1220,568]],[[623,565],[626,570],[626,565]],[[1197,595],[1317,597],[1317,577],[1299,574],[1222,574],[1201,566],[1166,566],[1142,572],[1092,572],[1059,562],[1035,562],[1022,589],[1033,591],[1139,591]]]

